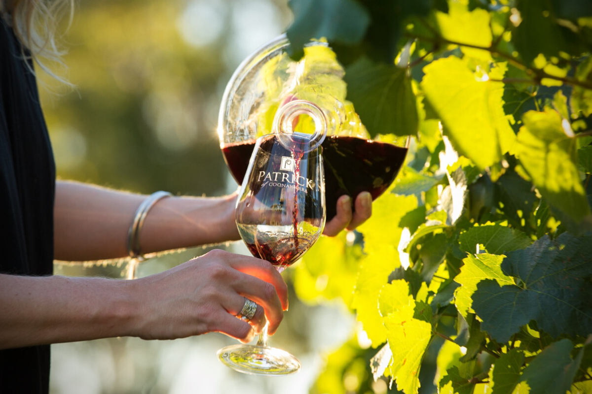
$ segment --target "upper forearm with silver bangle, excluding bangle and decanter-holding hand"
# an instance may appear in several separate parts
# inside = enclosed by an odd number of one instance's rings
[[[134,213],[147,196],[92,185],[57,183],[55,256],[66,261],[120,258]],[[140,233],[141,252],[238,239],[231,197],[166,197],[150,209]]]

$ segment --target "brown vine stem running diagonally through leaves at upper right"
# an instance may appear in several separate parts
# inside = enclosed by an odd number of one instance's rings
[[[528,83],[540,84],[540,80],[542,80],[543,78],[546,78],[546,79],[554,79],[554,80],[560,81],[562,83],[569,84],[571,86],[580,86],[580,87],[584,87],[585,89],[592,90],[592,83],[580,81],[580,80],[572,78],[572,77],[558,77],[555,75],[551,75],[544,70],[533,69],[532,67],[529,67],[526,64],[524,64],[518,58],[511,56],[510,54],[507,54],[503,51],[500,51],[496,47],[493,47],[493,46],[482,47],[480,45],[460,43],[459,41],[448,40],[447,38],[444,38],[441,35],[436,35],[436,38],[423,37],[420,35],[408,35],[408,37],[415,38],[416,40],[420,40],[420,41],[427,41],[429,43],[434,44],[436,47],[439,47],[440,44],[458,45],[459,47],[474,48],[474,49],[478,49],[478,50],[482,50],[482,51],[488,51],[492,54],[496,54],[497,56],[503,57],[504,59],[506,59],[510,63],[514,64],[514,66],[518,67],[519,69],[525,70],[527,73],[534,74],[532,80],[525,79],[525,80],[521,80],[520,82],[528,81]],[[503,82],[503,80],[502,80],[502,82]]]

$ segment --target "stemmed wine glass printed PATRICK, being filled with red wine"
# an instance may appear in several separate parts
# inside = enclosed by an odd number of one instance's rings
[[[302,115],[313,119],[312,135],[294,133]],[[280,108],[275,133],[257,139],[236,204],[236,224],[253,256],[282,272],[313,246],[323,232],[325,193],[322,149],[326,119],[313,103],[294,100]],[[256,345],[218,351],[227,366],[252,375],[287,375],[300,362],[266,344],[267,325]]]

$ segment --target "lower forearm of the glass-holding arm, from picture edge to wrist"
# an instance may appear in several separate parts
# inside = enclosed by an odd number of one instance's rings
[[[134,335],[141,311],[134,285],[0,274],[0,349]]]

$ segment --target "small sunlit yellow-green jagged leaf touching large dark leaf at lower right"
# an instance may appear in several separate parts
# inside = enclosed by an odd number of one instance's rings
[[[454,281],[461,284],[455,291],[456,308],[465,318],[471,311],[473,293],[477,290],[478,282],[483,279],[495,279],[496,284],[513,285],[514,281],[501,271],[503,256],[481,253],[480,255],[468,255],[462,262],[461,273],[456,275]]]

